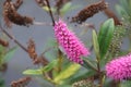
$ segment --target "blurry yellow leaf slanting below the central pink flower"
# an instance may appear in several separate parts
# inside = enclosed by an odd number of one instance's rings
[[[71,64],[68,69],[63,70],[60,74],[58,74],[55,78],[53,82],[56,84],[62,84],[63,79],[69,78],[70,76],[74,75],[79,70],[81,65],[80,64]]]

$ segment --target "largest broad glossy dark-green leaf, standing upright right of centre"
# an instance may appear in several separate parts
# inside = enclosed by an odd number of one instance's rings
[[[107,53],[112,35],[114,35],[115,24],[114,20],[107,20],[100,27],[98,33],[98,44],[99,44],[99,52],[100,59]]]

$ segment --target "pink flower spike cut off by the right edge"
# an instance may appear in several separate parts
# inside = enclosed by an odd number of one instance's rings
[[[131,53],[107,63],[106,75],[116,80],[131,78]]]

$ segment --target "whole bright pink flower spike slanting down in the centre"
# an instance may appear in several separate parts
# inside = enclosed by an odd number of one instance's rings
[[[55,35],[59,45],[64,49],[70,61],[83,64],[81,55],[88,55],[88,50],[79,40],[74,33],[68,29],[64,22],[59,20],[55,24]]]

